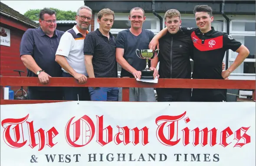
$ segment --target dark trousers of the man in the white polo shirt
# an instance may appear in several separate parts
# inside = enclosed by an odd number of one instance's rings
[[[63,72],[62,77],[73,77],[71,74]],[[64,100],[90,101],[90,93],[88,87],[64,87]]]

